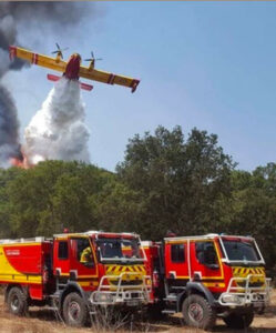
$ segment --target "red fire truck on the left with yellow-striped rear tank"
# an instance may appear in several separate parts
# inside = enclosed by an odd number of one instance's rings
[[[146,256],[134,233],[57,234],[0,241],[0,283],[11,313],[50,305],[73,326],[99,306],[139,306],[150,301]]]

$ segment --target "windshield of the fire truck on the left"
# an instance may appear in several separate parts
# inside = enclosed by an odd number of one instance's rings
[[[144,261],[144,252],[141,251],[136,239],[98,239],[96,245],[101,261]]]

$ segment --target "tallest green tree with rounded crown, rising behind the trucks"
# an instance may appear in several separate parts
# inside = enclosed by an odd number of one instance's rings
[[[215,134],[193,129],[185,141],[180,127],[159,127],[154,135],[130,140],[116,171],[140,193],[142,234],[160,239],[168,229],[178,234],[218,231],[216,211],[231,199],[234,167]]]

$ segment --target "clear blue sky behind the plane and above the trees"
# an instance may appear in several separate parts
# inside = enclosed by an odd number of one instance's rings
[[[67,3],[64,2],[64,6]],[[141,79],[137,91],[94,83],[83,92],[91,162],[114,170],[127,140],[159,124],[218,134],[238,168],[275,161],[275,2],[84,2],[85,19],[52,31],[19,28],[22,44],[50,53],[58,41],[98,68]],[[44,69],[9,73],[21,133],[52,83]]]

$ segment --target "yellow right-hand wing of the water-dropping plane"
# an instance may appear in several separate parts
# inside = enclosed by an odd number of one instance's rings
[[[108,84],[119,84],[123,87],[131,88],[132,92],[134,92],[140,83],[140,80],[132,79],[123,75],[117,75],[109,72],[104,72],[101,70],[89,69],[88,67],[80,67],[80,77],[89,80],[94,80]]]

